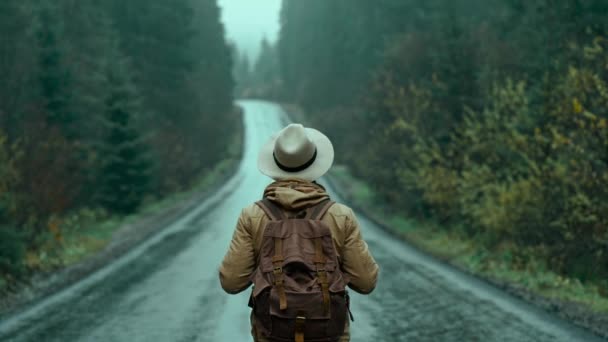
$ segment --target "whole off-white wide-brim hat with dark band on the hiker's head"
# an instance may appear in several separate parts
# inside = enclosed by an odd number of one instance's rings
[[[274,134],[258,156],[258,168],[275,179],[299,178],[314,181],[334,162],[334,147],[325,134],[300,124],[291,124]]]

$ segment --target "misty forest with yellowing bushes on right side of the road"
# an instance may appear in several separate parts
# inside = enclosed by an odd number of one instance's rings
[[[278,51],[393,209],[608,279],[608,3],[284,0]]]

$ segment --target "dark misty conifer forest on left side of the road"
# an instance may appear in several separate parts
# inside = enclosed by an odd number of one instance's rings
[[[67,213],[133,213],[223,158],[239,119],[215,0],[2,0],[0,36],[0,275]]]

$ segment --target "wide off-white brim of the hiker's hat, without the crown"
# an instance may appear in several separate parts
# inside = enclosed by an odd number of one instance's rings
[[[334,162],[334,146],[325,134],[316,129],[306,128],[306,135],[317,147],[317,158],[312,165],[299,172],[282,170],[274,160],[274,145],[278,138],[277,133],[260,150],[258,156],[258,169],[260,172],[274,180],[299,178],[314,181],[326,174]]]

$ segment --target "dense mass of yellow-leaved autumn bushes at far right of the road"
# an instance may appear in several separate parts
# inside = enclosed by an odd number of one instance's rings
[[[608,263],[604,42],[547,76],[542,105],[530,105],[525,83],[507,81],[454,133],[463,216],[488,240],[536,246],[553,269],[582,279],[607,274],[598,266]]]

